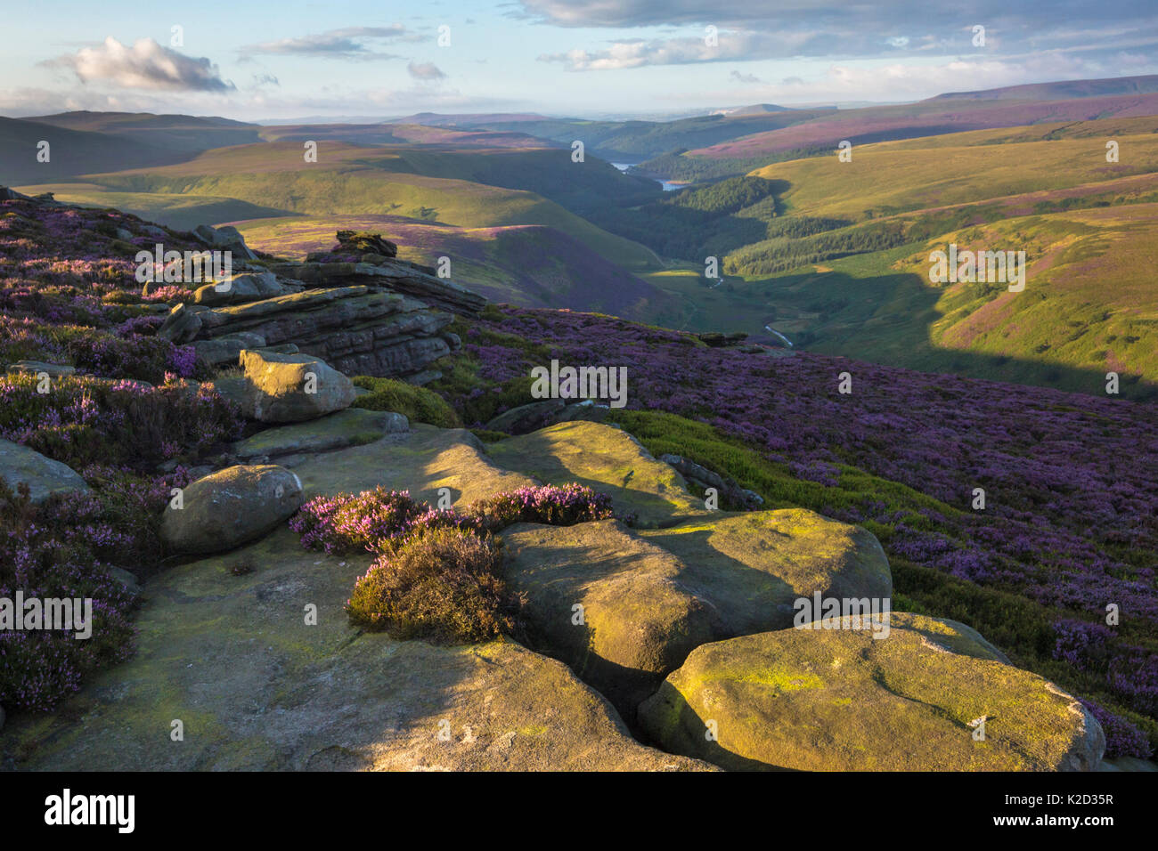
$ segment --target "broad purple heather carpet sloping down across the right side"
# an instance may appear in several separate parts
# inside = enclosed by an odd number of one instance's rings
[[[894,564],[1014,593],[1054,610],[1055,621],[1068,614],[1101,619],[1106,606],[1116,604],[1123,629],[1138,640],[1128,643],[1116,629],[1106,640],[1107,694],[1153,718],[1152,405],[807,352],[770,358],[572,311],[497,308],[462,336],[474,374],[464,380],[470,369],[457,367],[431,388],[445,393],[468,425],[530,402],[527,376],[549,358],[623,366],[629,412],[668,412],[711,426],[783,470],[783,480],[822,484],[807,507],[868,526]],[[843,372],[852,375],[851,394],[838,393]],[[501,403],[484,404],[491,399]],[[987,494],[983,511],[970,504],[976,487]],[[888,489],[938,505],[901,512]],[[762,496],[794,504],[799,492],[793,484]],[[1151,731],[1158,739],[1158,724]]]

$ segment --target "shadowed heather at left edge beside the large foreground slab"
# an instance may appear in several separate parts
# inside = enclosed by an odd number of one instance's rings
[[[110,567],[140,572],[161,552],[156,529],[178,471],[144,479],[124,470],[85,470],[94,490],[34,506],[0,482],[0,597],[91,599],[93,633],[0,631],[0,705],[47,711],[80,688],[89,672],[132,654],[129,612],[135,595]]]

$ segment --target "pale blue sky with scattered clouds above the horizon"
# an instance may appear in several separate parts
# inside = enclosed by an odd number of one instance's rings
[[[42,0],[5,14],[0,115],[659,113],[911,101],[1158,73],[1156,0],[186,0],[153,8]]]

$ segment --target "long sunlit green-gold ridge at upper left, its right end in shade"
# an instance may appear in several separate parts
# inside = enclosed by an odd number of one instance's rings
[[[173,227],[199,223],[196,217],[210,211],[214,217],[206,223],[279,214],[391,213],[459,227],[544,225],[625,269],[659,265],[654,252],[639,243],[535,191],[504,183],[558,190],[570,204],[626,201],[636,192],[660,191],[606,162],[573,163],[566,151],[426,152],[339,141],[321,146],[314,163],[305,161],[296,142],[261,142],[217,148],[171,166],[89,175],[76,184],[76,195],[57,184],[25,184],[21,191],[54,191],[60,200],[117,206]],[[227,212],[230,201],[237,208]],[[199,203],[207,206],[198,208]]]

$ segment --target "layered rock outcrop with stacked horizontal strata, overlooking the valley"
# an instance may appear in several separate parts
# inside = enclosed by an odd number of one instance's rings
[[[457,351],[446,331],[454,314],[476,316],[486,299],[435,271],[398,259],[379,234],[343,230],[335,251],[306,263],[257,263],[235,228],[201,226],[206,245],[233,251],[234,273],[197,287],[157,333],[192,345],[212,366],[236,362],[242,349],[294,345],[347,375],[422,383],[430,365]],[[161,284],[146,284],[146,294]]]

